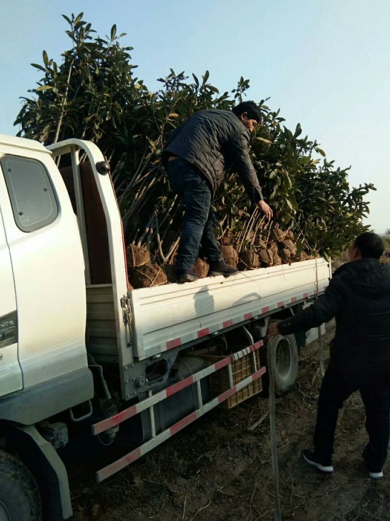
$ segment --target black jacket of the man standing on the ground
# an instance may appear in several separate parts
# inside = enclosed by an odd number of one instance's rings
[[[315,303],[279,322],[281,334],[336,319],[330,365],[358,373],[390,372],[390,265],[377,259],[344,264]]]

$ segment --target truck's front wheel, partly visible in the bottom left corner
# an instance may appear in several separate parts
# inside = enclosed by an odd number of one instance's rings
[[[30,470],[15,456],[0,450],[1,521],[40,521],[40,493]]]

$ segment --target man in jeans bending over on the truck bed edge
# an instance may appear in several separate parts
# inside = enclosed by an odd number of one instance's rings
[[[193,264],[201,244],[210,264],[210,275],[228,277],[237,269],[225,264],[214,235],[211,201],[224,179],[225,169],[233,166],[253,204],[272,217],[263,200],[248,152],[251,132],[261,121],[261,111],[253,101],[229,110],[200,110],[173,130],[163,153],[163,164],[172,189],[186,207],[176,273],[179,282],[196,280]]]

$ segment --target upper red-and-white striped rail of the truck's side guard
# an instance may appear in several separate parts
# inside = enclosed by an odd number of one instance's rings
[[[226,356],[226,358],[222,358],[222,360],[219,360],[215,364],[201,369],[200,371],[198,371],[198,373],[195,373],[194,375],[191,375],[185,378],[184,380],[180,380],[179,382],[174,383],[172,386],[163,389],[162,391],[154,394],[153,396],[150,396],[149,398],[146,398],[145,400],[142,400],[142,402],[139,402],[136,405],[132,405],[131,407],[124,409],[120,413],[115,414],[110,418],[106,418],[104,420],[99,421],[98,423],[92,426],[93,435],[100,434],[101,432],[104,432],[105,430],[110,429],[111,427],[119,425],[120,423],[122,423],[122,421],[132,418],[136,414],[139,414],[142,411],[146,411],[152,405],[155,405],[161,402],[162,400],[165,400],[165,398],[168,398],[169,396],[176,394],[177,392],[185,389],[193,383],[196,383],[198,380],[201,380],[202,378],[205,378],[206,376],[215,373],[215,371],[217,371],[218,369],[222,369],[222,367],[231,364],[233,360],[236,360],[237,358],[240,358],[250,353],[251,351],[255,351],[256,349],[261,348],[262,345],[262,340],[256,342],[248,348],[238,351],[238,353],[233,353],[232,355]]]

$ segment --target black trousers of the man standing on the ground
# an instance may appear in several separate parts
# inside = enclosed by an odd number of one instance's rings
[[[337,415],[344,400],[360,391],[366,407],[369,442],[363,453],[369,469],[381,469],[387,457],[390,433],[390,375],[358,375],[328,367],[318,398],[314,433],[316,452],[324,458],[333,453]]]

